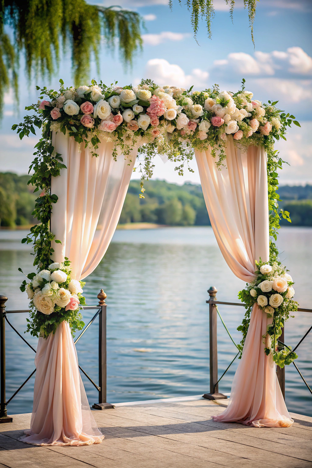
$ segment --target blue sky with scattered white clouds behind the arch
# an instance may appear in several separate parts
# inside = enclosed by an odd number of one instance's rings
[[[89,0],[89,3],[94,3]],[[99,1],[110,6],[109,0]],[[279,100],[281,108],[297,117],[302,128],[290,130],[287,142],[276,147],[290,167],[283,169],[281,183],[312,183],[312,43],[310,0],[260,0],[254,22],[255,49],[250,37],[247,10],[243,2],[236,1],[234,21],[231,22],[225,0],[214,0],[216,14],[212,25],[212,40],[207,37],[202,23],[197,40],[193,38],[190,14],[187,8],[173,1],[170,12],[167,0],[119,0],[118,5],[138,11],[145,17],[144,49],[134,59],[132,70],[125,71],[118,59],[102,47],[100,74],[92,64],[91,77],[106,83],[118,80],[119,84],[135,84],[142,77],[152,78],[160,85],[180,85],[194,89],[210,87],[215,82],[221,89],[236,91],[241,79],[247,80],[247,89],[254,98],[266,102]],[[183,3],[183,0],[182,0]],[[146,6],[147,5],[147,6]],[[72,84],[69,56],[59,66],[51,87],[58,87],[58,79]],[[36,102],[36,84],[29,85],[20,73],[20,114],[16,115],[12,93],[6,96],[5,118],[0,130],[2,148],[1,170],[27,172],[32,159],[36,138],[22,142],[10,131],[13,123],[20,121],[25,105]],[[165,165],[156,158],[154,177],[170,182],[199,182],[196,165],[194,174],[183,178],[174,173],[174,164]],[[134,177],[138,177],[134,175]]]

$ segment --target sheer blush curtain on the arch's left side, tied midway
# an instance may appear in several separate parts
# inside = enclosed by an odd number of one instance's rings
[[[58,196],[51,214],[54,262],[71,260],[73,277],[87,277],[102,260],[115,232],[137,149],[129,157],[112,158],[113,143],[102,141],[99,156],[63,133],[52,144],[67,169],[52,178]],[[31,427],[23,442],[34,445],[91,445],[104,438],[97,428],[81,381],[78,359],[67,322],[55,335],[39,338]]]

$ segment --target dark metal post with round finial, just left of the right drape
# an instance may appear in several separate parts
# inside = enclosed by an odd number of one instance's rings
[[[210,393],[205,393],[204,398],[208,400],[220,400],[227,396],[219,393],[218,386],[218,344],[217,344],[217,309],[213,301],[217,300],[217,288],[210,286],[208,289],[209,301],[209,348],[210,348]]]

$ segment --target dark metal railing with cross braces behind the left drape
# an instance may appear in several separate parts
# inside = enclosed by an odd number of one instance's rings
[[[74,341],[76,344],[80,338],[84,335],[86,330],[94,322],[97,316],[99,316],[99,385],[96,385],[94,381],[89,377],[89,375],[79,366],[80,371],[84,373],[87,379],[94,385],[94,387],[99,392],[99,402],[94,403],[92,407],[94,409],[108,409],[115,408],[114,405],[106,402],[106,384],[107,384],[107,369],[106,369],[106,294],[101,289],[100,293],[97,295],[99,299],[99,304],[97,306],[84,306],[83,310],[96,310],[95,315],[92,317],[90,322],[82,330],[78,338]],[[31,348],[35,353],[36,350],[23,338],[23,336],[14,328],[11,322],[7,319],[7,314],[22,314],[27,313],[29,310],[6,310],[5,303],[7,302],[6,296],[0,295],[0,423],[10,423],[13,418],[7,416],[7,405],[10,403],[15,395],[24,387],[28,380],[34,375],[36,369],[27,377],[27,379],[22,383],[22,385],[15,391],[15,393],[6,400],[6,322],[8,325],[17,333],[18,336]]]

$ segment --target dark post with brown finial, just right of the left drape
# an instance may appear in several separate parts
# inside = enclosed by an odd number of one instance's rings
[[[101,289],[97,295],[99,307],[102,308],[99,314],[99,402],[94,403],[94,409],[115,408],[114,405],[106,402],[106,380],[107,380],[107,356],[106,356],[106,302],[107,295]]]

